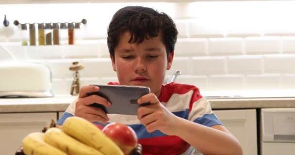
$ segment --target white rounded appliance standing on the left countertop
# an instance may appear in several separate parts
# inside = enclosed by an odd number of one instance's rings
[[[1,97],[52,97],[52,75],[43,63],[9,62],[0,65]]]

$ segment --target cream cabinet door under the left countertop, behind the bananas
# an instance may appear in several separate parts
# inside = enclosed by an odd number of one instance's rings
[[[56,121],[57,113],[2,113],[0,114],[0,155],[14,155],[25,136],[41,132]],[[4,147],[5,146],[5,147]]]

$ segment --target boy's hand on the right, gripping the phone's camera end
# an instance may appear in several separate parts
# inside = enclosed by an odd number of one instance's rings
[[[173,135],[172,129],[178,117],[166,109],[154,93],[140,97],[137,102],[138,104],[150,103],[137,109],[137,118],[146,126],[148,132],[160,130],[166,135]]]

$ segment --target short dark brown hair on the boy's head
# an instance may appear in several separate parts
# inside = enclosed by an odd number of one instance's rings
[[[144,39],[157,37],[162,32],[167,57],[174,51],[178,31],[175,23],[163,12],[143,6],[127,6],[118,10],[108,28],[108,48],[115,59],[115,47],[120,35],[129,31],[129,43],[142,43]]]

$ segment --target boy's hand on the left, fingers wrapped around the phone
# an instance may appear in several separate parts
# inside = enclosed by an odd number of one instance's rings
[[[91,107],[93,103],[101,104],[105,107],[110,107],[109,103],[105,98],[98,95],[90,95],[87,93],[98,92],[98,86],[83,86],[79,93],[78,101],[76,102],[75,116],[82,117],[90,122],[100,122],[107,124],[108,118],[107,114],[100,108]]]

